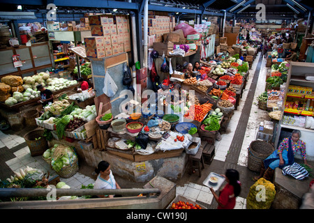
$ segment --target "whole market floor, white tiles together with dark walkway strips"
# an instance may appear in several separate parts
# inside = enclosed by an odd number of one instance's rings
[[[258,64],[260,63],[260,64]],[[184,176],[176,180],[177,184],[177,194],[183,195],[188,199],[200,202],[207,208],[216,208],[217,203],[213,199],[213,195],[209,191],[209,188],[204,186],[202,182],[211,172],[217,174],[224,174],[226,169],[233,168],[237,169],[240,173],[241,181],[241,194],[237,198],[238,209],[246,208],[246,196],[248,191],[253,185],[253,180],[251,178],[257,174],[248,170],[247,168],[247,148],[251,141],[255,140],[257,133],[258,124],[260,121],[269,120],[267,112],[258,109],[257,107],[257,96],[264,92],[265,77],[266,77],[266,60],[260,60],[260,54],[257,55],[253,66],[250,70],[250,75],[248,76],[248,82],[246,84],[246,89],[244,89],[243,96],[239,102],[239,107],[234,111],[234,115],[227,127],[225,134],[222,134],[222,139],[215,142],[216,155],[213,162],[210,165],[205,164],[205,169],[202,170],[202,177],[198,177],[198,174],[184,174]],[[257,69],[258,68],[258,69]],[[256,75],[254,76],[256,71]],[[253,79],[255,77],[255,79]],[[252,82],[255,83],[254,88],[251,89]],[[246,100],[248,95],[253,96],[253,102],[250,105],[246,105]],[[251,99],[252,100],[252,99]],[[246,109],[245,111],[243,109]],[[246,129],[239,125],[239,120],[241,118],[246,118],[247,124]],[[241,119],[242,120],[242,119]],[[239,129],[241,128],[241,129]],[[24,168],[26,166],[36,167],[38,169],[43,169],[44,171],[50,171],[50,174],[54,176],[56,173],[52,171],[49,165],[43,160],[41,156],[31,157],[29,153],[29,148],[24,141],[24,134],[29,132],[30,128],[24,128],[21,131],[8,130],[6,132],[0,132],[0,178],[5,179],[13,175],[13,171],[17,169]],[[240,132],[241,138],[238,139]],[[237,139],[239,148],[232,148],[233,140]],[[235,150],[230,153],[230,150]],[[234,156],[234,154],[237,154]],[[235,162],[230,162],[230,160],[235,160]],[[94,176],[94,168],[89,167],[84,163],[80,163],[80,171],[75,174],[75,176],[67,179],[62,179],[72,188],[80,188],[81,185],[88,185],[89,183],[94,183],[96,176]],[[141,188],[145,183],[134,183],[119,176],[115,176],[119,185],[122,188]]]

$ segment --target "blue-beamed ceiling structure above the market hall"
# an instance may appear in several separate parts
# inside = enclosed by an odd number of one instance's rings
[[[47,13],[48,3],[54,3],[59,13],[112,13],[114,8],[119,12],[138,10],[142,12],[143,0],[2,0],[1,11],[16,11],[21,5],[23,11]],[[149,0],[149,10],[167,11],[174,14],[222,17],[226,10],[227,18],[255,18],[264,3],[266,20],[289,17],[307,17],[313,15],[313,0]]]

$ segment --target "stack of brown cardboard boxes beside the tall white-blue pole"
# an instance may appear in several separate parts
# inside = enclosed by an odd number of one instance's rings
[[[91,37],[84,38],[87,57],[130,52],[130,24],[126,15],[91,15],[89,26]]]

